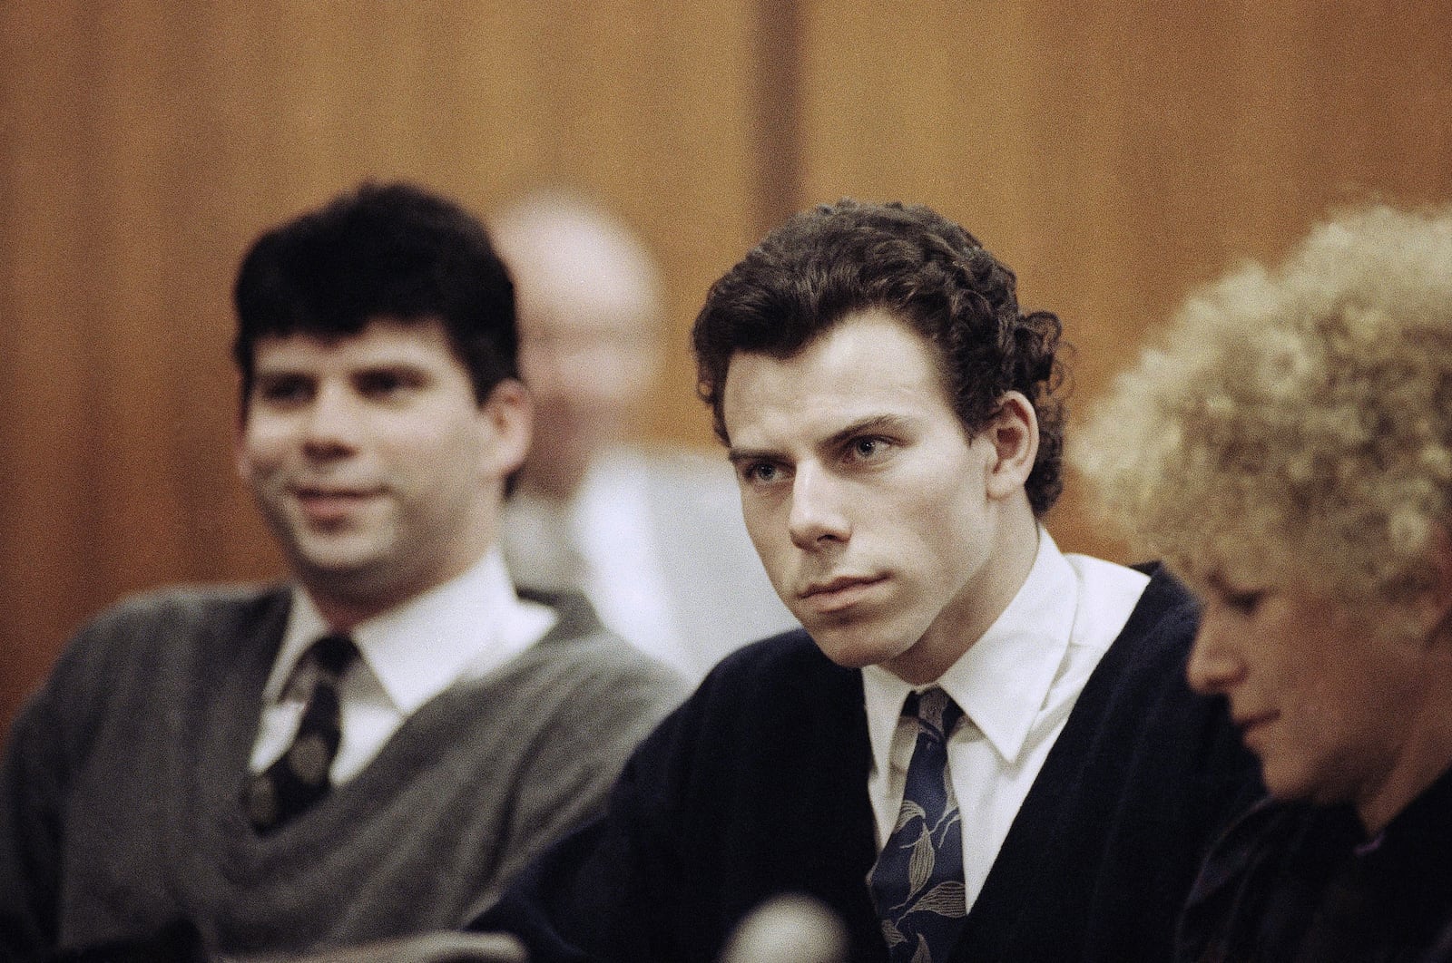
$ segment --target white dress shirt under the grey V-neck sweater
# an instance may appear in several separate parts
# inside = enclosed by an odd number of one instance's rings
[[[343,674],[343,738],[330,776],[343,783],[363,770],[420,706],[465,679],[479,679],[553,628],[555,611],[520,599],[499,551],[350,632],[362,658]],[[263,689],[261,722],[250,769],[260,773],[292,744],[303,696],[289,690],[298,658],[330,631],[318,608],[293,587],[287,627]]]

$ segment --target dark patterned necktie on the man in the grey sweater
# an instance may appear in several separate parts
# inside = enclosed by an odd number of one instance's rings
[[[276,830],[321,799],[338,754],[338,679],[359,654],[347,635],[324,635],[298,660],[289,686],[308,690],[298,735],[282,757],[247,783],[244,805],[258,832]]]

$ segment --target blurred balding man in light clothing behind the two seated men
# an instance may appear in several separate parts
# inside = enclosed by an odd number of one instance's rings
[[[499,212],[491,231],[514,276],[536,413],[536,444],[505,506],[515,579],[584,590],[610,628],[693,677],[791,627],[725,460],[632,445],[665,328],[646,248],[558,193]]]

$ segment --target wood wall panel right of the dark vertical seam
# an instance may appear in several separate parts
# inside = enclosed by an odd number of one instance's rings
[[[1340,204],[1452,197],[1452,7],[809,0],[806,200],[932,204],[1066,321],[1089,409],[1195,284]],[[1122,558],[1074,480],[1050,526]]]

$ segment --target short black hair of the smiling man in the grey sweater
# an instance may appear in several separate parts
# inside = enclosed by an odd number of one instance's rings
[[[263,233],[232,302],[244,410],[258,338],[356,335],[375,318],[440,321],[479,403],[518,377],[514,284],[488,232],[414,184],[364,183]]]

